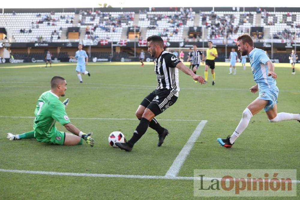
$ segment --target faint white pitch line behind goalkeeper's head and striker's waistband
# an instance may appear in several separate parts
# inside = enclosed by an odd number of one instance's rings
[[[126,87],[127,85],[120,85],[122,87],[96,87],[96,86],[68,86],[68,88],[89,88],[89,89],[152,89],[154,90],[155,87],[151,86],[130,86]],[[204,87],[204,86],[203,86]],[[182,90],[210,90],[210,91],[249,91],[249,89],[238,89],[238,88],[180,88]],[[49,88],[49,86],[0,86],[0,88]],[[300,92],[300,90],[280,90],[280,92]]]

